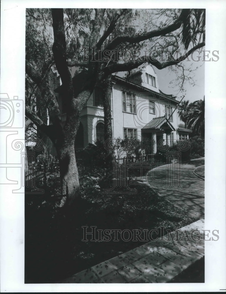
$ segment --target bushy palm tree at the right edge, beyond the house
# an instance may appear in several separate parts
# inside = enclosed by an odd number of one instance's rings
[[[202,138],[205,135],[205,96],[204,100],[190,103],[190,109],[185,116],[188,128],[199,134]]]

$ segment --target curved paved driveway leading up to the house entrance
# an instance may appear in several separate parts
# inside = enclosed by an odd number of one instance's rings
[[[163,197],[197,219],[204,218],[204,180],[193,171],[205,158],[189,163],[171,163],[149,171],[146,180]]]

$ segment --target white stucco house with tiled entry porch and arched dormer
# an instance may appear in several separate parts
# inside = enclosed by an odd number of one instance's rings
[[[60,97],[60,88],[55,89],[56,98],[66,119]],[[163,93],[158,86],[158,77],[149,64],[143,64],[133,74],[123,78],[123,74],[112,75],[112,128],[113,138],[153,138],[153,153],[159,144],[170,146],[177,140],[189,138],[191,130],[179,128],[175,96]],[[88,143],[104,141],[103,93],[96,87],[81,114],[76,135],[76,150]]]

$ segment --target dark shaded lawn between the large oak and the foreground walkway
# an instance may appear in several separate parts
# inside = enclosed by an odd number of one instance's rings
[[[136,194],[105,194],[98,183],[80,181],[81,199],[56,208],[47,196],[25,198],[25,282],[57,282],[147,241],[82,241],[83,228],[175,230],[194,222],[184,211],[147,185],[131,185]],[[153,234],[153,238],[155,235]]]

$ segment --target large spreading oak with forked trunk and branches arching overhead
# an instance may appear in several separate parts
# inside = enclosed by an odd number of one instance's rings
[[[113,73],[131,71],[146,62],[158,69],[180,65],[192,52],[205,46],[205,11],[202,9],[171,10],[169,17],[164,16],[164,11],[159,11],[160,17],[153,18],[150,25],[140,31],[128,30],[128,27],[126,29],[125,24],[128,20],[131,21],[130,27],[136,27],[139,18],[138,14],[130,9],[40,11],[36,13],[34,10],[27,10],[26,30],[30,33],[26,36],[26,78],[32,81],[34,91],[26,96],[25,111],[26,117],[36,125],[38,130],[45,133],[56,147],[62,194],[67,192],[69,202],[72,203],[79,196],[74,143],[82,109],[94,87],[109,81],[109,76]],[[42,13],[43,17],[40,17]],[[142,13],[145,11],[140,11],[140,14]],[[123,19],[126,19],[124,24],[122,24]],[[32,26],[34,22],[36,27]],[[51,37],[47,37],[48,31],[53,32],[53,44]],[[142,48],[157,40],[158,44],[161,46],[165,44],[165,48],[172,53],[177,47],[183,53],[169,60],[156,60],[145,55],[124,62],[115,59],[118,54],[115,50]],[[86,56],[81,53],[82,46],[86,46]],[[103,52],[108,53],[110,58],[100,59],[100,53]],[[37,58],[38,55],[39,58]],[[87,58],[84,59],[84,57]],[[73,66],[83,69],[74,78],[70,71]],[[48,82],[50,69],[57,71],[62,81],[62,99],[66,105],[64,126],[61,123],[61,114],[53,89]],[[31,97],[34,96],[36,89],[41,100],[39,105],[44,105],[48,109],[50,120],[48,125],[42,120],[37,109],[34,110],[31,103]],[[107,89],[109,95],[109,88]],[[37,100],[33,102],[37,103]],[[109,112],[107,98],[105,108]]]

